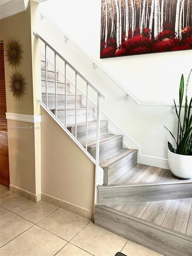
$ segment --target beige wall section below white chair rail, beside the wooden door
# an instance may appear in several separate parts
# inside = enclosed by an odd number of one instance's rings
[[[37,131],[27,129],[26,127],[34,127],[34,124],[15,120],[7,120],[7,125],[10,184],[36,194],[34,140],[36,134],[40,133],[40,128]],[[35,126],[40,127],[40,123]]]

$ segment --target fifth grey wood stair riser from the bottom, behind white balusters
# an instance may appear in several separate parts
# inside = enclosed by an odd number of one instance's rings
[[[67,128],[73,136],[75,136],[75,128]],[[85,136],[86,126],[77,127],[77,140],[84,141],[86,139]],[[107,122],[100,124],[100,135],[108,134]],[[96,138],[97,136],[97,124],[88,125],[88,139]]]

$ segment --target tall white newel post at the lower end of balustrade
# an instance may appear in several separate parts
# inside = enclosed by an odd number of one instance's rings
[[[96,166],[95,166],[95,205],[97,205],[97,185],[99,169],[99,142],[100,142],[100,119],[101,119],[101,96],[97,95],[97,137],[96,137]]]

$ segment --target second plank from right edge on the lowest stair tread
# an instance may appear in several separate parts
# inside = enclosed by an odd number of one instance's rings
[[[162,226],[185,234],[191,205],[192,198],[173,200]]]

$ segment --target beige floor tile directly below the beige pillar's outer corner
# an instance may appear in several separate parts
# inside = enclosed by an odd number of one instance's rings
[[[26,220],[36,224],[54,212],[56,209],[58,209],[58,206],[52,205],[50,203],[44,201],[35,203],[29,200],[26,203],[15,207],[11,210],[11,212],[14,212]]]

